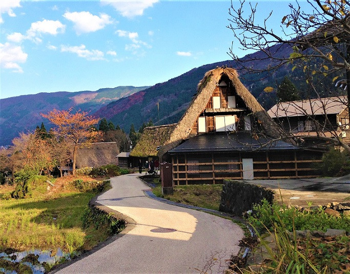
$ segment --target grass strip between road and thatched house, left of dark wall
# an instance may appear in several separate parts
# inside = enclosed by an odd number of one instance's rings
[[[173,195],[162,195],[159,182],[153,182],[156,187],[152,189],[157,197],[214,210],[219,210],[222,185],[185,185],[174,186]]]

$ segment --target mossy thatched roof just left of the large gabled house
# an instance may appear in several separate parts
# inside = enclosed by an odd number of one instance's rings
[[[157,147],[164,145],[164,143],[168,141],[176,125],[177,124],[146,127],[143,129],[141,138],[130,152],[130,156],[157,156]]]

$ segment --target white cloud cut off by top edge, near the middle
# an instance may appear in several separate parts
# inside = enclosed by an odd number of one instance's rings
[[[113,6],[122,16],[132,18],[143,14],[158,0],[101,0],[102,4]]]

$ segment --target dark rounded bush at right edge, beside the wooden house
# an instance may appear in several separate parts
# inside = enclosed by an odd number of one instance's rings
[[[316,164],[316,168],[323,176],[334,177],[336,175],[345,175],[350,171],[350,162],[346,159],[346,151],[340,152],[338,149],[328,150],[322,156],[322,162]],[[342,170],[342,171],[341,171]],[[340,171],[342,173],[340,173]]]

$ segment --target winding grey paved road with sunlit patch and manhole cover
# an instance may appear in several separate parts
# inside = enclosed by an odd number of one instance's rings
[[[241,228],[229,220],[145,196],[137,174],[111,180],[97,202],[132,218],[121,238],[58,273],[222,273],[239,251]]]

